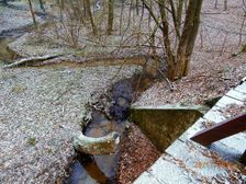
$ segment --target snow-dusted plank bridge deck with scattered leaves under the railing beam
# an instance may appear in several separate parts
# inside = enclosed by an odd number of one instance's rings
[[[246,112],[246,82],[227,92],[134,183],[246,183],[246,166],[238,162],[246,149],[246,133],[216,141],[210,148],[190,140],[199,130],[243,112]]]

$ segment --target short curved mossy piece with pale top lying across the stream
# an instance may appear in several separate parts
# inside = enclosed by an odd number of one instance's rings
[[[115,153],[119,143],[120,135],[115,131],[100,138],[87,137],[80,134],[74,140],[74,147],[77,151],[93,156]]]

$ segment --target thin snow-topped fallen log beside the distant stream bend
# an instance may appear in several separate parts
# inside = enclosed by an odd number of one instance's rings
[[[31,66],[34,62],[41,62],[41,61],[44,61],[44,60],[54,59],[54,58],[57,58],[59,56],[62,56],[62,55],[55,55],[55,56],[54,55],[53,56],[46,55],[46,56],[23,58],[23,59],[14,61],[13,64],[4,66],[3,69],[21,67],[21,66]]]

